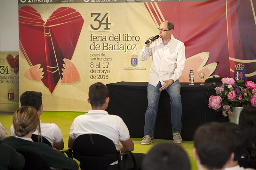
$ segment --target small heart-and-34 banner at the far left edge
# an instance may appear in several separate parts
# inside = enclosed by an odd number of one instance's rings
[[[19,53],[0,52],[0,111],[19,108]]]

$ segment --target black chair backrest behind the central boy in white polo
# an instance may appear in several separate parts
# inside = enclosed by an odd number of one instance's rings
[[[85,134],[76,138],[73,144],[73,157],[80,161],[81,170],[105,170],[118,160],[121,170],[120,151],[109,138],[99,134]]]

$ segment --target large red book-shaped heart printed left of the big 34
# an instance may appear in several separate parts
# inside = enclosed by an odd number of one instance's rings
[[[72,59],[83,23],[81,14],[70,7],[58,8],[46,22],[30,6],[19,9],[20,51],[30,67],[40,64],[41,81],[51,93],[63,78],[64,59]]]

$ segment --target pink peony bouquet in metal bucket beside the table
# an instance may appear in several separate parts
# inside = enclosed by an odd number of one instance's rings
[[[209,98],[209,108],[221,111],[222,115],[231,115],[232,107],[256,107],[256,84],[246,81],[245,86],[237,86],[234,78],[222,78],[222,85],[215,89],[216,95]]]

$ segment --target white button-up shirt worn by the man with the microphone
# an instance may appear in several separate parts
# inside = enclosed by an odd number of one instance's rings
[[[146,61],[152,55],[152,63],[148,83],[156,86],[159,81],[180,78],[185,67],[185,45],[172,35],[166,45],[161,38],[140,50],[140,61]]]

